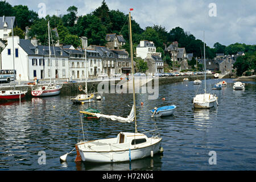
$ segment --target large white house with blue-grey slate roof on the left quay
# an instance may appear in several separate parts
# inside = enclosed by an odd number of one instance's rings
[[[49,47],[38,45],[36,39],[24,40],[19,36],[7,37],[7,46],[3,49],[2,69],[13,69],[13,53],[17,80],[34,80],[51,78],[68,78],[68,54],[60,47],[51,46],[51,63]],[[19,77],[20,75],[20,77]]]

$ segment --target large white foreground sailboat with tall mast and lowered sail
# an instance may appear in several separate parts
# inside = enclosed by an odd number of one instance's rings
[[[131,51],[131,68],[134,75],[133,66],[133,44],[131,40],[131,14],[129,12],[130,28],[130,51]],[[88,113],[87,113],[88,114]],[[135,132],[120,132],[117,137],[109,139],[99,139],[92,141],[82,141],[76,144],[77,157],[75,162],[95,162],[95,163],[114,163],[142,159],[147,156],[153,156],[160,150],[162,138],[159,135],[148,138],[143,133],[137,131],[136,107],[135,107],[135,86],[133,77],[133,108],[127,118],[117,117],[115,115],[104,115],[98,113],[89,113],[97,117],[109,118],[119,122],[135,122]],[[74,149],[75,149],[74,148]],[[74,150],[73,149],[73,150]],[[161,151],[162,148],[161,148]],[[69,153],[68,153],[69,154]],[[66,160],[67,155],[60,157]]]

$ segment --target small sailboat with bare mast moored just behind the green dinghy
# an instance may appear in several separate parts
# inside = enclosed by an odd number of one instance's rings
[[[88,73],[88,67],[87,67],[87,60],[86,60],[86,48],[85,48],[85,89],[82,89],[82,85],[79,85],[79,91],[84,92],[84,94],[78,94],[75,98],[71,98],[71,101],[76,103],[89,103],[94,101],[94,93],[88,93],[87,90],[87,73]]]

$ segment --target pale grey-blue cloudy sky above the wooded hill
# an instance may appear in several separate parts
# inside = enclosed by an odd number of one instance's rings
[[[46,14],[67,14],[69,6],[78,8],[78,15],[92,13],[103,0],[7,0],[11,5],[27,5],[39,11],[39,3],[45,3]],[[256,44],[256,0],[105,0],[110,10],[129,13],[141,28],[154,24],[166,27],[169,32],[177,26],[193,34],[197,39],[213,47],[219,42]],[[210,5],[210,6],[209,6]],[[216,5],[216,9],[214,9]],[[216,14],[215,14],[216,13]],[[111,32],[108,32],[111,33]]]

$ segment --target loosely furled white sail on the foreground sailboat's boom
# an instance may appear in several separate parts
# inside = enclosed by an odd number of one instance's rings
[[[90,113],[87,111],[80,111],[80,113],[95,115],[98,118],[103,117],[103,118],[111,119],[112,121],[119,121],[122,123],[130,123],[130,122],[133,122],[133,120],[134,120],[134,105],[133,105],[133,108],[131,109],[130,114],[127,116],[127,118],[119,117],[117,115],[105,115],[105,114],[100,114],[100,113]]]

